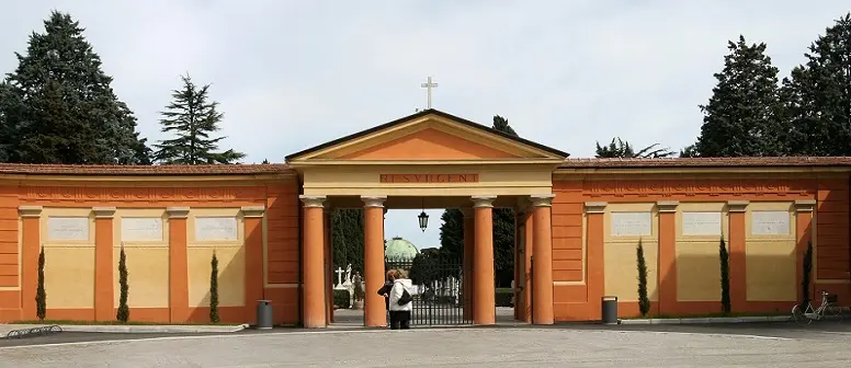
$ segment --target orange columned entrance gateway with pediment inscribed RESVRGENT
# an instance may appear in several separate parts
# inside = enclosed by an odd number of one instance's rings
[[[534,279],[515,266],[515,317],[552,323],[553,265],[551,205],[553,171],[568,153],[436,110],[379,125],[286,157],[302,182],[302,319],[306,327],[327,326],[332,319],[330,221],[338,208],[364,209],[364,325],[386,325],[384,298],[384,214],[387,209],[458,208],[464,216],[464,262],[461,309],[419,300],[420,324],[496,323],[492,208],[513,208],[535,218]],[[522,231],[525,234],[525,230]],[[515,265],[525,265],[525,241],[517,242]],[[454,273],[451,261],[439,274]],[[455,265],[457,267],[457,265]],[[533,286],[534,285],[534,286]],[[535,288],[535,308],[530,304]],[[433,297],[433,295],[428,296]],[[444,300],[441,300],[444,301]],[[436,320],[429,317],[440,307]],[[423,313],[424,312],[424,313]],[[446,318],[449,313],[450,318]],[[452,314],[455,313],[455,314]],[[455,318],[454,315],[458,315]],[[524,315],[518,315],[524,314]],[[417,323],[417,321],[415,321]]]

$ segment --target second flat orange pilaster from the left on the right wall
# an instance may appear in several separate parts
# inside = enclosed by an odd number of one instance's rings
[[[677,314],[677,206],[658,202],[659,207],[659,314]]]

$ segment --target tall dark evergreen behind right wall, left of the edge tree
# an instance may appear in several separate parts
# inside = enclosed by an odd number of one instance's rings
[[[778,68],[765,44],[729,42],[724,69],[706,105],[695,149],[701,157],[783,156],[788,130],[780,118]]]

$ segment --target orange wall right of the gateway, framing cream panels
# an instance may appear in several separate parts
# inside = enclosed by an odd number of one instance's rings
[[[603,214],[586,214],[585,204],[615,203],[703,203],[749,200],[793,203],[797,199],[818,199],[816,209],[816,275],[828,289],[849,300],[849,233],[848,181],[815,181],[790,179],[764,180],[579,180],[553,183],[556,198],[553,203],[553,263],[556,320],[600,319],[600,298],[603,280]],[[730,252],[730,292],[734,312],[786,311],[793,302],[749,301],[746,296],[745,214],[730,214],[728,250]],[[806,221],[808,215],[798,216]],[[653,302],[650,313],[703,314],[720,311],[718,301],[679,301],[677,299],[676,217],[659,214],[659,301]],[[585,221],[585,227],[583,227]],[[797,228],[795,249],[797,261],[806,248],[809,223],[791,225]],[[585,241],[582,237],[586,237]],[[581,267],[586,269],[582,272]],[[609,273],[611,275],[611,273]],[[801,294],[797,286],[797,295]],[[661,310],[659,309],[661,304]],[[636,302],[621,302],[621,317],[638,314]]]

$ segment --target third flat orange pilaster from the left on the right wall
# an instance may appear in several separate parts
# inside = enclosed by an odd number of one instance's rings
[[[747,200],[729,200],[729,239],[727,251],[729,252],[730,266],[730,309],[733,312],[747,310],[747,268],[745,267],[747,246],[745,233],[745,214],[748,207]]]

